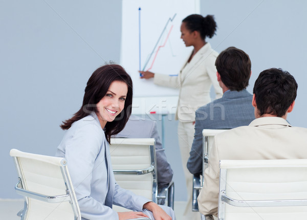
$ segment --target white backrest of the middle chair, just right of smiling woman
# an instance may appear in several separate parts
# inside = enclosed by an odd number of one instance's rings
[[[157,202],[155,139],[111,138],[110,153],[117,184]]]

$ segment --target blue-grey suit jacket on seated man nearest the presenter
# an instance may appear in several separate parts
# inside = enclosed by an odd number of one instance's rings
[[[228,91],[195,113],[195,134],[187,167],[192,174],[203,170],[203,129],[231,129],[255,119],[253,96],[247,91]]]

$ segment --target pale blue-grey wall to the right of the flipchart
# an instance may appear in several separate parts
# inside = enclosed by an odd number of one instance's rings
[[[218,26],[210,39],[218,52],[234,46],[249,54],[252,76],[248,90],[252,92],[259,73],[269,68],[289,71],[298,83],[295,107],[288,116],[293,126],[306,127],[304,117],[307,81],[307,29],[305,1],[201,1],[203,15],[213,14]]]

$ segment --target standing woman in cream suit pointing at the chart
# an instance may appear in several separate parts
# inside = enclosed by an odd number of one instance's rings
[[[221,98],[223,93],[216,79],[214,65],[218,53],[211,49],[209,42],[206,42],[206,37],[211,38],[216,31],[213,16],[189,15],[182,20],[180,31],[186,47],[192,46],[193,50],[178,76],[155,74],[148,71],[140,73],[141,78],[144,79],[153,77],[155,84],[180,89],[176,119],[179,120],[179,147],[188,191],[185,219],[191,219],[192,174],[187,169],[187,161],[194,138],[195,111],[198,107],[211,101],[210,87],[212,84],[216,98]]]

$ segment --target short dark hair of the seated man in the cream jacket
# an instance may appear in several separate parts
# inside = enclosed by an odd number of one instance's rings
[[[260,116],[270,114],[277,117],[286,115],[296,98],[297,83],[294,77],[282,69],[262,71],[254,85],[253,93]]]

